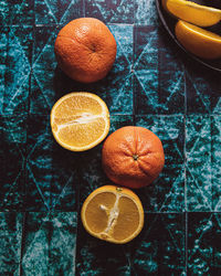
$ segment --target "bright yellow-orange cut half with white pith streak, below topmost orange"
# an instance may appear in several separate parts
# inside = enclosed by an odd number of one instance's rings
[[[109,131],[109,112],[102,98],[92,93],[70,93],[51,110],[51,128],[56,141],[73,151],[98,145]]]

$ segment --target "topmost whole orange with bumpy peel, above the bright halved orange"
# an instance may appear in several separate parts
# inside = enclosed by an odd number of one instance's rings
[[[112,68],[117,45],[109,29],[94,18],[80,18],[57,34],[54,52],[59,66],[71,78],[92,83]]]

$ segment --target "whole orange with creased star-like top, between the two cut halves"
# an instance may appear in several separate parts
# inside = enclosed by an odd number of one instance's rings
[[[115,183],[141,188],[150,184],[165,164],[160,139],[144,127],[127,126],[108,136],[102,150],[103,168]]]

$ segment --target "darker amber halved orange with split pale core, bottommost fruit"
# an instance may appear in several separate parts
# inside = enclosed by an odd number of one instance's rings
[[[124,244],[136,237],[144,225],[144,209],[129,189],[104,185],[93,191],[82,206],[82,222],[93,236]]]

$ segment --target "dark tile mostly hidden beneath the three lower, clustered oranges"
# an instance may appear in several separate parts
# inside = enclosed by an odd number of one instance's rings
[[[133,116],[110,116],[110,132],[116,129],[133,125]],[[102,146],[103,142],[90,151],[82,152],[80,163],[80,194],[81,205],[86,197],[104,184],[110,184],[110,180],[105,176],[102,168]]]

